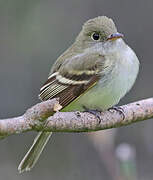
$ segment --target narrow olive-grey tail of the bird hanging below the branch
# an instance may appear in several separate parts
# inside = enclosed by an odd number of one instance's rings
[[[20,173],[24,171],[30,171],[33,168],[51,135],[52,132],[38,133],[31,148],[19,164],[18,170]]]

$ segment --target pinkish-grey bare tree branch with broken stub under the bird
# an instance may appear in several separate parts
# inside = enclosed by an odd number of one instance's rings
[[[137,101],[101,112],[100,119],[88,112],[56,112],[58,99],[36,104],[24,115],[0,120],[0,137],[26,131],[88,132],[125,126],[153,118],[153,98]],[[56,112],[56,113],[54,113]]]

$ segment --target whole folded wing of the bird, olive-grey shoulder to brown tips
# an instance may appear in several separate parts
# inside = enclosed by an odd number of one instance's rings
[[[69,51],[55,62],[39,94],[43,101],[58,97],[63,108],[93,87],[99,80],[99,72],[104,69],[101,54],[91,51],[69,56]]]

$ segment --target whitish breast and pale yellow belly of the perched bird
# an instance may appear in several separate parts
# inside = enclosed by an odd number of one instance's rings
[[[127,46],[125,51],[117,51],[106,58],[116,61],[113,69],[77,101],[72,102],[70,110],[83,110],[83,106],[106,110],[116,105],[131,89],[139,69],[139,61],[133,50]]]

